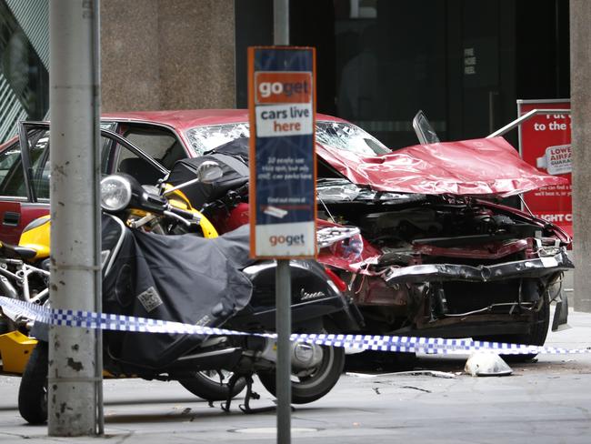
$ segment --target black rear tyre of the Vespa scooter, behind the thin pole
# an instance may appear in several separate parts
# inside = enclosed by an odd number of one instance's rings
[[[305,378],[292,378],[291,401],[293,404],[307,404],[321,399],[340,378],[345,366],[345,349],[341,347],[323,347],[322,362],[316,371]],[[276,396],[275,371],[257,373],[263,387]]]

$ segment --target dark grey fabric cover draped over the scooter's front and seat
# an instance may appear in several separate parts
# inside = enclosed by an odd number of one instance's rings
[[[103,222],[103,243],[114,220]],[[121,230],[118,227],[119,231]],[[252,262],[248,227],[215,239],[161,236],[124,228],[124,241],[103,280],[103,311],[219,327],[251,298],[240,271]],[[140,368],[166,368],[203,337],[105,332],[107,351]]]

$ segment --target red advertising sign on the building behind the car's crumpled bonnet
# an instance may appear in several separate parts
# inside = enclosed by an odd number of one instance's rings
[[[569,100],[518,100],[517,114],[533,109],[570,109]],[[519,151],[530,165],[549,175],[566,177],[568,184],[545,187],[524,195],[527,207],[537,217],[562,227],[573,235],[572,151],[570,114],[539,114],[519,128]]]

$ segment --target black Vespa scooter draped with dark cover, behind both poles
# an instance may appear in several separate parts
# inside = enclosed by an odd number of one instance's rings
[[[248,229],[222,237],[193,233],[158,235],[128,227],[132,209],[152,214],[174,212],[195,223],[195,216],[170,207],[133,177],[102,181],[103,309],[106,313],[155,318],[245,332],[275,329],[275,261],[248,257]],[[355,328],[360,321],[336,284],[315,261],[292,260],[294,332],[320,333]],[[46,328],[35,323],[40,342],[19,389],[19,410],[30,423],[46,420]],[[46,327],[46,326],[45,326]],[[45,331],[46,333],[46,331]],[[199,372],[229,372],[226,406],[240,381],[249,389],[257,374],[275,395],[275,339],[260,336],[201,336],[171,333],[105,331],[104,366],[112,375],[177,380],[186,389],[212,399]],[[292,343],[292,401],[308,403],[332,389],[343,369],[343,348]],[[219,384],[217,384],[219,387]],[[212,389],[215,383],[212,382]],[[240,388],[241,389],[241,388]],[[213,393],[219,396],[219,391]]]

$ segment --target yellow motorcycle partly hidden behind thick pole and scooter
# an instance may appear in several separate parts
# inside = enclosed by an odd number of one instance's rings
[[[219,166],[205,162],[196,177],[181,185],[162,182],[158,186],[144,186],[145,190],[165,197],[167,209],[159,212],[131,209],[126,215],[129,227],[157,234],[183,234],[192,232],[206,238],[217,237],[211,221],[192,207],[183,188],[196,182],[208,183],[221,175]],[[0,295],[33,304],[44,305],[49,299],[49,215],[38,217],[23,230],[18,245],[0,242]],[[0,335],[0,354],[5,373],[22,374],[27,359],[35,348],[35,339],[29,338],[31,320],[4,310],[5,330]]]

